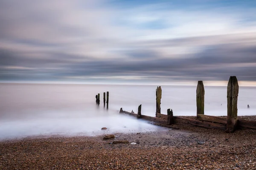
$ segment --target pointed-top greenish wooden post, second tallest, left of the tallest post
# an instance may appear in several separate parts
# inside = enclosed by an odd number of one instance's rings
[[[198,81],[196,88],[196,108],[197,114],[204,114],[204,84],[203,81]]]

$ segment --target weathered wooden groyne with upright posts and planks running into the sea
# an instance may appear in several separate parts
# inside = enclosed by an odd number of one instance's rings
[[[145,119],[162,125],[191,125],[211,129],[226,130],[226,132],[234,132],[236,129],[256,129],[256,121],[237,119],[237,100],[239,93],[239,85],[235,76],[231,76],[227,85],[227,117],[204,115],[204,84],[198,81],[196,89],[197,114],[196,119],[189,119],[180,116],[173,116],[173,111],[167,109],[167,115],[157,113],[161,111],[160,99],[162,95],[161,87],[156,89],[156,116],[145,116],[141,113],[141,105],[137,113],[123,111],[120,108],[119,113],[128,114],[137,117],[137,119]]]

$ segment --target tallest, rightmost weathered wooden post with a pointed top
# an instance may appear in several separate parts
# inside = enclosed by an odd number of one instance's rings
[[[230,76],[227,84],[227,132],[236,130],[238,92],[239,85],[236,76]]]

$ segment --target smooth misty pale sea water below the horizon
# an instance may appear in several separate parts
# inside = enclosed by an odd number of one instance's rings
[[[161,111],[196,115],[195,86],[161,86]],[[0,84],[0,139],[31,135],[97,135],[157,130],[147,121],[119,115],[122,107],[155,115],[155,85]],[[103,92],[109,91],[109,109]],[[100,93],[101,103],[95,103]],[[238,115],[256,115],[256,88],[240,87]],[[247,105],[250,109],[247,109]],[[205,114],[227,115],[227,88],[205,87]],[[106,131],[100,130],[108,127]]]

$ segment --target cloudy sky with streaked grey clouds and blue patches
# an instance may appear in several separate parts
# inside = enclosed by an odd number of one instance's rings
[[[0,82],[256,86],[256,0],[0,0]]]

